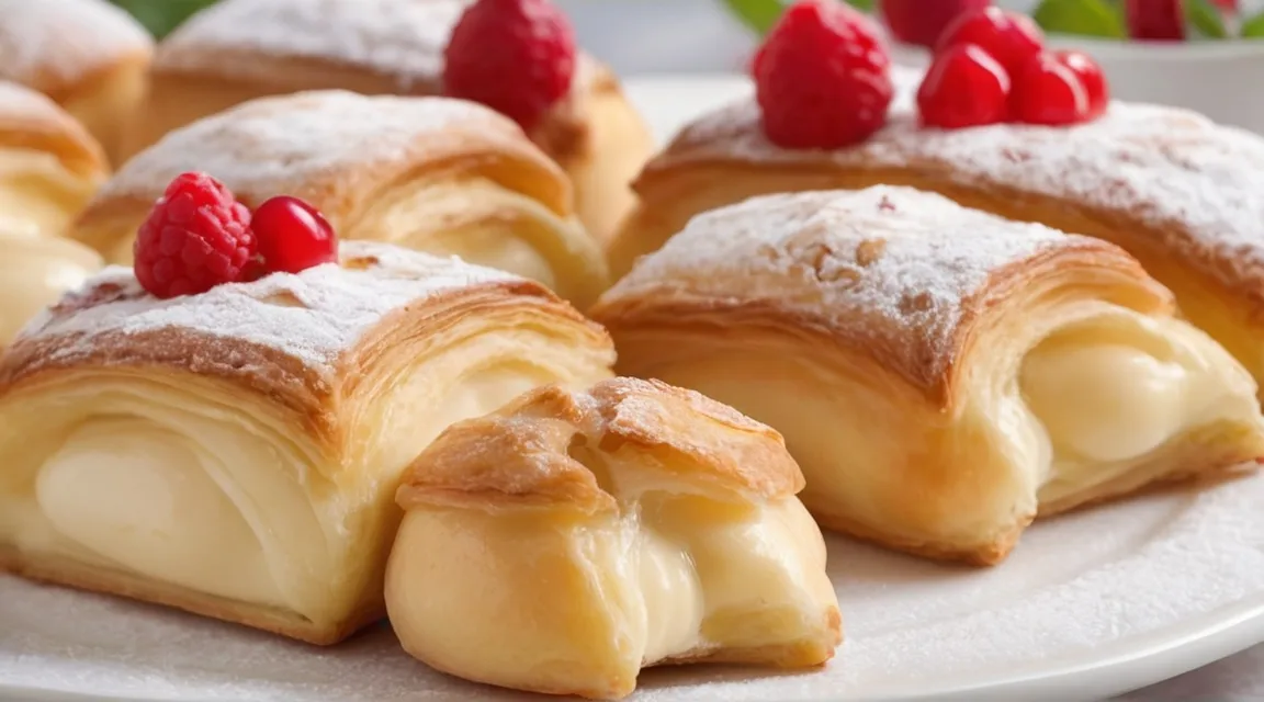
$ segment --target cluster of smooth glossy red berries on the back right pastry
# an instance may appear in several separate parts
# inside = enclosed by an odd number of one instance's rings
[[[967,13],[939,37],[918,88],[921,124],[962,129],[997,122],[1071,125],[1106,111],[1101,68],[1079,52],[1050,52],[1026,15]]]

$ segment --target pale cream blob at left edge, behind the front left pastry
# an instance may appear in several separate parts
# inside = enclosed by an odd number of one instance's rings
[[[13,341],[30,318],[101,266],[95,251],[75,241],[10,232],[0,225],[0,347]]]

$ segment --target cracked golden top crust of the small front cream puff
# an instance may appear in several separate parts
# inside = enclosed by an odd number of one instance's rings
[[[593,514],[637,496],[635,485],[603,486],[571,457],[576,434],[603,452],[628,446],[657,453],[661,461],[647,471],[700,492],[762,500],[803,489],[798,463],[770,427],[693,390],[614,378],[585,393],[540,388],[449,428],[406,473],[398,501],[404,509],[564,506]]]

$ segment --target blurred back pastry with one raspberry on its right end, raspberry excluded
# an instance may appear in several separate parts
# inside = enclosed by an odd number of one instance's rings
[[[158,47],[130,152],[255,97],[341,88],[441,92],[444,47],[468,0],[221,0]],[[575,183],[584,225],[609,236],[652,140],[618,80],[581,57],[570,96],[531,138]]]

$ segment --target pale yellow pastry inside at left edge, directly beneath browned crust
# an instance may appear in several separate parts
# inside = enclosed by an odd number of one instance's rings
[[[47,152],[0,149],[0,230],[58,236],[92,197],[96,183]]]

